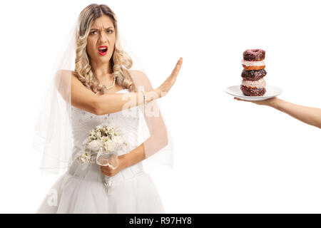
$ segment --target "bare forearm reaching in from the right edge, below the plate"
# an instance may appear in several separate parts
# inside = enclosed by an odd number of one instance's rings
[[[270,103],[272,108],[276,108],[283,113],[291,115],[293,118],[300,120],[309,125],[321,128],[321,109],[310,108],[302,105],[296,105],[285,100],[276,98]]]

